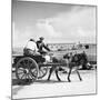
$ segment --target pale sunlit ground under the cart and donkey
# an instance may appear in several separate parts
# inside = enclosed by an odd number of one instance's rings
[[[48,74],[31,84],[18,84],[14,73],[12,73],[12,99],[41,98],[54,96],[94,94],[97,92],[96,70],[80,70],[82,81],[79,81],[76,73],[71,74],[71,82],[67,76],[61,74],[61,82],[58,82],[54,73],[51,81],[47,81]]]

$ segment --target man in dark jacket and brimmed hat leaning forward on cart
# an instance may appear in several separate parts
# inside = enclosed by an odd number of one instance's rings
[[[37,41],[37,47],[38,47],[38,51],[41,53],[41,54],[46,54],[47,51],[50,51],[50,49],[48,48],[48,46],[44,44],[43,40],[44,38],[43,37],[40,37],[39,38],[40,40]],[[46,49],[47,51],[44,51],[43,49]]]

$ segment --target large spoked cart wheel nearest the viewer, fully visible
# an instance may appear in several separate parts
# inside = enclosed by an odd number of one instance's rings
[[[38,64],[30,57],[22,58],[17,62],[16,77],[19,80],[31,80],[34,82],[38,78]]]

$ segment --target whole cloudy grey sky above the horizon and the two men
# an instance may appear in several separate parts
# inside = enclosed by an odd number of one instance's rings
[[[12,46],[30,38],[47,43],[96,43],[96,7],[34,1],[12,1]]]

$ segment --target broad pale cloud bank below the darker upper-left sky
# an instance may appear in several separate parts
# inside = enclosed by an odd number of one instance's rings
[[[49,18],[39,18],[22,29],[12,23],[13,44],[24,46],[30,38],[44,37],[46,42],[96,42],[96,8],[74,7]]]

